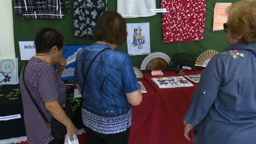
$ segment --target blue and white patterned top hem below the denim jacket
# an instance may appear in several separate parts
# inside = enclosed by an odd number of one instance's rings
[[[131,109],[123,115],[101,116],[82,108],[82,123],[101,134],[123,132],[131,126]]]

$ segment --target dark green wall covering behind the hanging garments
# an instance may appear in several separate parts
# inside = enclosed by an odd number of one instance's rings
[[[73,0],[71,6],[73,6]],[[140,1],[140,0],[138,0]],[[150,22],[150,44],[152,52],[163,52],[172,57],[176,53],[189,53],[193,57],[199,56],[200,53],[208,49],[214,49],[222,52],[228,45],[226,33],[224,31],[212,31],[213,9],[216,2],[237,2],[238,0],[216,1],[207,0],[207,16],[205,20],[205,31],[203,41],[191,41],[185,43],[168,43],[162,42],[162,14],[146,18],[130,18],[126,19],[127,23],[143,23]],[[156,7],[160,7],[160,0],[156,0]],[[73,7],[72,7],[73,9]],[[117,11],[117,1],[108,0],[108,11]],[[93,40],[74,36],[73,31],[73,12],[68,14],[65,12],[63,19],[31,19],[23,20],[22,15],[16,15],[13,11],[14,23],[14,43],[15,54],[19,58],[19,72],[26,61],[20,61],[18,41],[33,41],[36,33],[40,28],[52,27],[61,32],[65,39],[65,45],[92,44]],[[127,45],[118,46],[117,50],[127,53]],[[147,55],[131,56],[134,66],[141,67],[141,62]]]

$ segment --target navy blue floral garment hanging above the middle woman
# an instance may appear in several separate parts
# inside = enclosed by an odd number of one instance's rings
[[[92,38],[93,27],[107,10],[107,0],[74,0],[75,36]]]

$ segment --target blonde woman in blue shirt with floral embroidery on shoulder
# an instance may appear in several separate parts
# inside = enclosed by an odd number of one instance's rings
[[[234,3],[228,15],[230,46],[201,74],[184,116],[184,136],[195,130],[197,144],[256,142],[256,1]]]

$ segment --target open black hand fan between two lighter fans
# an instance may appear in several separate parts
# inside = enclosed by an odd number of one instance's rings
[[[184,74],[184,66],[192,67],[195,65],[195,59],[188,53],[177,53],[172,56],[171,61],[169,63],[171,67],[177,68],[178,74]]]

